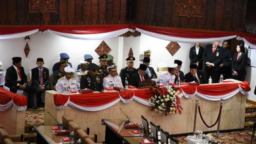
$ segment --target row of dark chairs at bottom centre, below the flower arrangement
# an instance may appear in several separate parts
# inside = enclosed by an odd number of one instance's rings
[[[179,143],[177,139],[171,137],[171,135],[161,129],[160,126],[156,126],[156,124],[154,124],[153,122],[148,122],[148,120],[143,116],[141,116],[141,120],[144,126],[144,130],[146,131],[146,135],[150,135],[150,133],[152,133],[155,143]],[[160,132],[160,135],[158,132]]]

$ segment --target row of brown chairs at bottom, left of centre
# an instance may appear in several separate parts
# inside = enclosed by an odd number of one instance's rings
[[[70,132],[74,132],[75,135],[84,144],[102,144],[97,142],[97,135],[90,135],[90,129],[82,130],[73,120],[68,116],[62,116],[62,123]]]

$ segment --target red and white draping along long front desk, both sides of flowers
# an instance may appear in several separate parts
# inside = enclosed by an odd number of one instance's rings
[[[246,94],[251,88],[248,82],[227,84],[205,84],[200,86],[181,86],[179,95],[192,98],[197,95],[210,101],[218,101],[221,98],[228,99],[241,92]],[[54,94],[54,104],[57,109],[64,109],[67,105],[82,111],[100,111],[115,105],[120,100],[130,103],[133,99],[147,106],[152,106],[148,100],[152,97],[150,89],[126,90],[125,92],[104,92],[91,94],[63,95]]]

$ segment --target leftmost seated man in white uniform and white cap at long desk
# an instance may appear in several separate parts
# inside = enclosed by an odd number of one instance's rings
[[[65,67],[65,76],[58,79],[56,84],[56,91],[62,94],[70,94],[72,92],[77,92],[77,85],[73,73],[75,70],[68,66]]]

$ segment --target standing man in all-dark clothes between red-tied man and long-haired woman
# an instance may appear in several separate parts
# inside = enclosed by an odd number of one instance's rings
[[[221,69],[221,74],[223,74],[224,79],[231,79],[232,75],[232,54],[229,48],[228,41],[223,41],[223,53],[222,55],[222,63],[219,65]]]

